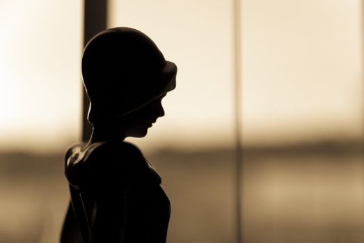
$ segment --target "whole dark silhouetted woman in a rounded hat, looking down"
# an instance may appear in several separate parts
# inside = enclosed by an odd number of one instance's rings
[[[161,99],[175,88],[177,67],[148,36],[120,27],[88,42],[81,68],[93,133],[65,158],[78,232],[85,243],[166,242],[170,203],[161,178],[124,140],[144,137],[164,116]],[[77,235],[68,221],[63,242]]]

